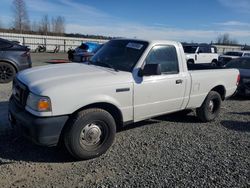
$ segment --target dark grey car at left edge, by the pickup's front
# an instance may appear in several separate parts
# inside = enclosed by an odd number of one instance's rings
[[[11,82],[16,73],[30,68],[30,49],[0,38],[0,83]]]

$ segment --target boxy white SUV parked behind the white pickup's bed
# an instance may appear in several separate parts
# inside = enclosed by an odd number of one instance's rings
[[[188,64],[217,65],[217,48],[209,44],[182,43]]]

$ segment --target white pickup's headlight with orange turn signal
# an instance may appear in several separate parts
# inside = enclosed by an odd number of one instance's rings
[[[38,112],[51,111],[51,102],[49,97],[35,95],[30,93],[27,99],[27,106]]]

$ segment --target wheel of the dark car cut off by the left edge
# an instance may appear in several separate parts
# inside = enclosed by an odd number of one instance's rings
[[[0,83],[9,83],[16,76],[16,69],[13,65],[0,62]]]

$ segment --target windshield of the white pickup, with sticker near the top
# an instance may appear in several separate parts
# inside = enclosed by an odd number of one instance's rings
[[[111,40],[90,59],[97,66],[131,72],[148,43],[136,40]]]

